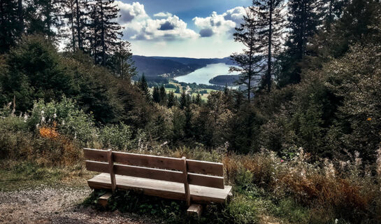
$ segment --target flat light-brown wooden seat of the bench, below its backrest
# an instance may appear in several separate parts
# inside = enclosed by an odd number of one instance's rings
[[[115,175],[117,189],[135,190],[145,195],[164,197],[172,200],[184,200],[184,183],[159,181],[134,176]],[[111,189],[110,174],[102,173],[87,181],[93,189]],[[189,184],[190,197],[196,203],[224,203],[229,197],[231,186],[224,189],[209,188]]]

